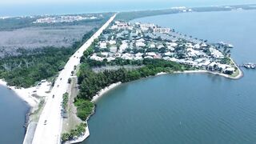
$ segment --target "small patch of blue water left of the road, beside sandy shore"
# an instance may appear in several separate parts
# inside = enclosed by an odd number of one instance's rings
[[[20,144],[23,142],[26,113],[29,106],[14,92],[0,86],[0,143]]]

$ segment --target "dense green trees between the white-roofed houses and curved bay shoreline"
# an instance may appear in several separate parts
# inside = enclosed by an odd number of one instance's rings
[[[140,78],[154,76],[160,72],[171,73],[173,71],[190,70],[189,66],[168,62],[162,59],[144,59],[143,66],[135,70],[105,70],[96,73],[91,70],[91,66],[83,62],[78,72],[79,94],[75,100],[78,107],[78,117],[82,120],[92,113],[93,106],[90,100],[103,88],[116,82],[131,82]]]

